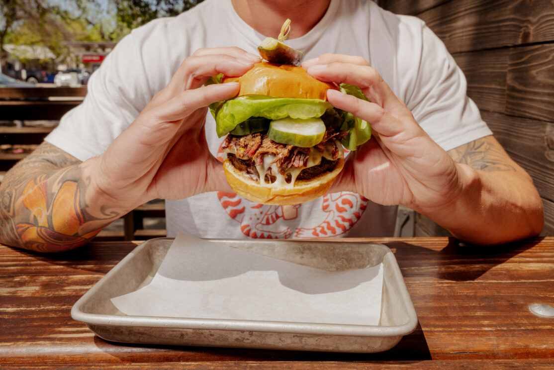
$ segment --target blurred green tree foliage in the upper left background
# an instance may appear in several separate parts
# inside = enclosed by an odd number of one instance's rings
[[[0,0],[0,70],[4,43],[44,45],[57,56],[64,41],[117,42],[131,29],[175,16],[203,0]]]

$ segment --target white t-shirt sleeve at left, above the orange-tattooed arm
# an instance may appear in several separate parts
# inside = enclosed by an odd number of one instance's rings
[[[151,99],[134,33],[122,39],[90,77],[82,104],[45,141],[85,161],[103,153]]]

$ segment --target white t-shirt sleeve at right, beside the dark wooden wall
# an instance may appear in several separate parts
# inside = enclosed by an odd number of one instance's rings
[[[491,135],[466,95],[466,79],[454,58],[432,30],[414,19],[399,32],[398,43],[399,81],[406,82],[403,99],[408,109],[447,151]]]

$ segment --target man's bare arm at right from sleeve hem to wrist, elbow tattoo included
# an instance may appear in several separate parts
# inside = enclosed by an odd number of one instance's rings
[[[476,244],[500,244],[541,232],[542,202],[531,177],[493,137],[449,154],[457,162],[460,190],[450,202],[420,213]]]

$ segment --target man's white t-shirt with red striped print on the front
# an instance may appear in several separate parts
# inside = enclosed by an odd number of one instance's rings
[[[256,54],[264,38],[238,17],[229,0],[206,0],[177,17],[154,20],[117,44],[91,76],[83,104],[46,140],[81,161],[98,156],[196,49],[235,46]],[[445,150],[491,135],[466,97],[463,73],[418,18],[397,16],[371,1],[331,0],[320,22],[288,44],[303,50],[306,59],[323,53],[363,56]],[[220,157],[223,138],[209,114],[206,136],[210,151]],[[382,237],[392,236],[395,218],[396,207],[347,192],[283,207],[222,192],[166,202],[170,237],[177,232],[203,238]]]

